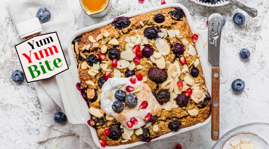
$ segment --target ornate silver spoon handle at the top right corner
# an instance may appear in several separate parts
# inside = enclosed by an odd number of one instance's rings
[[[252,18],[254,18],[258,15],[257,9],[248,6],[247,4],[243,3],[242,1],[239,1],[239,0],[227,0],[227,1],[230,1],[230,3],[234,4],[236,7],[244,10]]]

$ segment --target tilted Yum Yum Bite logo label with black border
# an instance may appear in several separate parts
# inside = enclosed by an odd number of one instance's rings
[[[27,83],[48,79],[68,69],[56,32],[29,38],[15,49]]]

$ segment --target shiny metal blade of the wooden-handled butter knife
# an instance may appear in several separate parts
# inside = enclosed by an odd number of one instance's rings
[[[219,50],[223,18],[214,13],[208,19],[208,61],[212,67],[219,67]]]

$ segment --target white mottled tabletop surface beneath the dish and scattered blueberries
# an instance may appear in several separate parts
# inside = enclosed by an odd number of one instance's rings
[[[137,0],[112,2],[111,11],[103,18],[91,18],[85,15],[81,12],[78,0],[70,0],[70,3],[73,3],[70,9],[74,10],[78,27],[82,28],[161,3],[160,0],[145,0],[143,4],[138,4]],[[269,123],[269,1],[248,2],[259,8],[256,18],[250,18],[231,4],[208,8],[187,0],[166,0],[166,3],[172,2],[181,3],[189,9],[198,30],[207,27],[205,22],[212,13],[221,13],[226,18],[222,33],[221,56],[226,62],[229,80],[220,87],[220,135],[249,122]],[[243,27],[236,26],[232,21],[233,14],[237,12],[243,12],[246,16]],[[0,14],[0,148],[44,148],[37,144],[42,111],[33,84],[27,84],[26,81],[16,84],[10,79],[13,70],[21,69],[14,48],[16,43],[12,42],[12,39],[18,36],[12,19],[6,18],[7,15],[4,13]],[[72,16],[73,14],[70,15]],[[242,48],[250,50],[251,56],[247,61],[241,60],[238,55]],[[234,93],[230,87],[231,82],[237,78],[246,83],[245,90],[241,94]],[[210,128],[210,125],[206,125],[146,145],[151,148],[174,148],[177,143],[181,143],[183,148],[211,148],[215,142],[211,140]]]

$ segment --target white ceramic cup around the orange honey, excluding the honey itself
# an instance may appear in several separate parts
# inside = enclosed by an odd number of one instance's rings
[[[111,6],[112,6],[112,0],[107,0],[107,3],[106,3],[106,6],[99,10],[99,11],[96,11],[96,12],[89,12],[88,10],[85,9],[85,7],[83,6],[81,0],[80,0],[80,6],[82,7],[82,9],[84,10],[84,12],[89,15],[89,16],[92,16],[92,17],[95,17],[95,18],[99,18],[99,17],[102,17],[104,15],[106,15],[109,10],[111,9]]]

